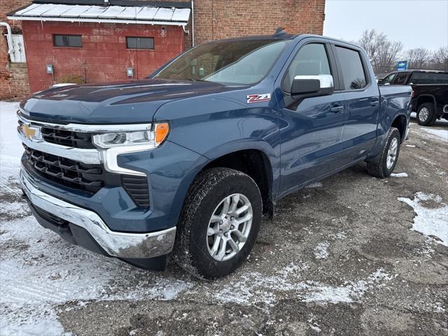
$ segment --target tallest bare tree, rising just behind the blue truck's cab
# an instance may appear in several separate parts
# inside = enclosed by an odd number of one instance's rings
[[[389,41],[384,33],[375,29],[365,30],[358,44],[367,52],[375,73],[391,71],[403,49],[401,42]]]

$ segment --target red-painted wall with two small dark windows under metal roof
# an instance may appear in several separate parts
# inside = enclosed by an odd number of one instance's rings
[[[181,27],[161,25],[99,24],[90,22],[22,22],[31,92],[52,85],[45,64],[53,64],[55,82],[85,79],[86,83],[144,78],[184,48]],[[79,34],[82,48],[53,46],[53,34]],[[126,36],[154,38],[154,50],[126,48]]]

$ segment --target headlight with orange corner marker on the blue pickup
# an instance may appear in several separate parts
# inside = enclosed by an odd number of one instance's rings
[[[162,144],[168,132],[168,123],[157,123],[153,130],[97,134],[93,136],[93,143],[100,148],[141,145],[148,150]]]

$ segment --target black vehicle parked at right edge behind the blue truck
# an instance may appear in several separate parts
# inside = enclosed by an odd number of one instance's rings
[[[396,71],[378,85],[411,85],[412,111],[419,125],[434,125],[440,118],[448,120],[448,71]]]

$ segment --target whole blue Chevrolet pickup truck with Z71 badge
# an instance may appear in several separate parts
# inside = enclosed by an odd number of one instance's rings
[[[262,215],[366,162],[393,171],[411,87],[378,87],[364,50],[314,35],[214,41],[144,80],[20,104],[20,181],[38,223],[145,269],[206,279],[248,257]],[[356,188],[353,183],[351,188]]]

